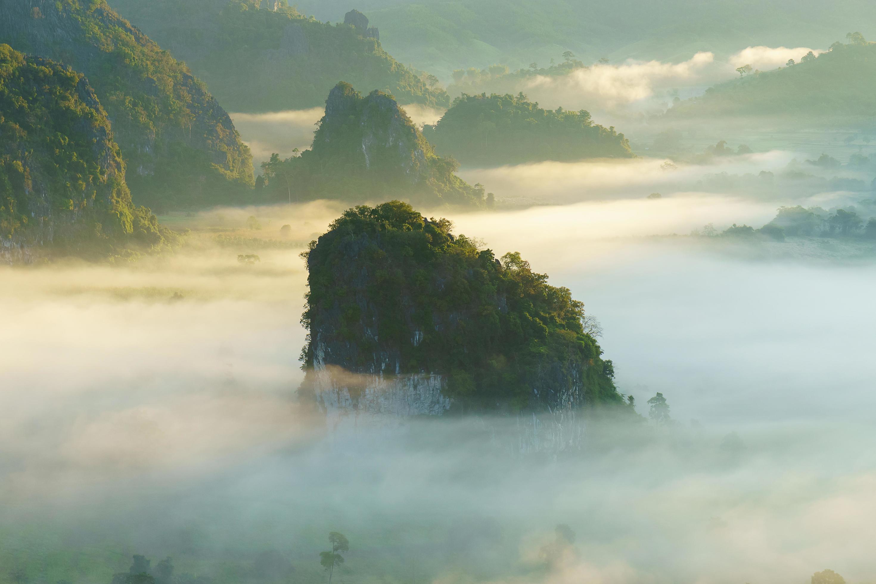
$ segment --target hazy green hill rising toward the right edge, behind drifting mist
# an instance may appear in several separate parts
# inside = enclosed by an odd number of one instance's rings
[[[817,57],[754,71],[677,103],[669,117],[778,116],[799,123],[876,115],[876,43],[854,38]]]

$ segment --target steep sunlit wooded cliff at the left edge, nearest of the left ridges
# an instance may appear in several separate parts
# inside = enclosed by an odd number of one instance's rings
[[[131,204],[119,148],[85,77],[0,45],[0,260],[117,254],[172,238]]]

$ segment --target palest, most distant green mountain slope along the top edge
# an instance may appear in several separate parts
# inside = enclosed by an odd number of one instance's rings
[[[572,51],[587,63],[601,57],[688,60],[718,58],[745,46],[824,47],[837,32],[876,33],[870,0],[297,0],[322,20],[355,7],[380,29],[386,50],[442,79],[463,67],[533,61],[548,67]]]

